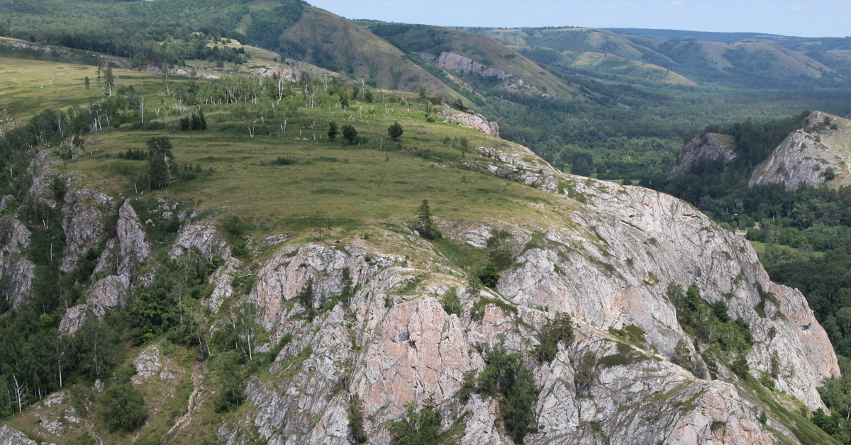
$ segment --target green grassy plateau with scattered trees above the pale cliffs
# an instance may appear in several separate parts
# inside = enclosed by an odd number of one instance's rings
[[[29,71],[24,66],[30,66]],[[3,102],[11,105],[6,109],[15,111],[19,123],[42,109],[83,105],[103,94],[94,81],[91,66],[0,58],[0,67],[3,67],[0,81],[16,73],[31,77],[20,87],[3,88]],[[59,73],[57,84],[48,85],[54,71]],[[317,212],[347,227],[378,221],[403,222],[413,218],[423,199],[431,200],[438,215],[475,220],[477,215],[488,214],[488,219],[500,219],[502,215],[501,218],[511,220],[529,213],[524,210],[527,203],[546,199],[544,193],[534,189],[471,172],[465,163],[475,163],[477,157],[470,153],[462,155],[451,145],[443,144],[446,137],[451,140],[465,137],[472,146],[494,147],[504,145],[505,141],[454,123],[443,123],[442,119],[427,123],[425,111],[419,110],[414,100],[410,106],[390,103],[391,96],[396,94],[376,92],[377,103],[358,105],[352,101],[345,113],[330,104],[312,110],[300,107],[294,111],[296,123],[291,119],[286,133],[279,131],[281,122],[266,119],[266,125],[275,128],[272,134],[252,139],[247,128],[237,133],[220,131],[223,126],[247,126],[243,117],[234,117],[237,109],[244,110],[243,106],[205,106],[211,129],[180,132],[175,128],[178,111],[174,100],[163,91],[161,77],[136,71],[115,72],[120,84],[133,84],[146,96],[148,120],[163,121],[168,128],[156,132],[105,128],[96,140],[88,135],[87,156],[60,167],[83,183],[105,188],[112,194],[134,195],[134,184],[129,178],[134,173],[142,174],[146,168],[144,162],[117,159],[118,153],[144,150],[148,137],[164,134],[172,140],[176,163],[200,163],[205,170],[215,170],[212,176],[169,186],[169,197],[195,202],[200,211],[214,214],[227,208],[228,213],[271,224],[276,231],[303,229],[310,224],[306,217]],[[63,73],[67,73],[66,77],[60,76]],[[89,90],[83,88],[85,75],[92,78]],[[169,79],[174,83],[196,82],[174,76]],[[387,113],[382,97],[388,100]],[[300,100],[300,96],[289,100]],[[155,116],[157,108],[159,117]],[[344,117],[354,118],[344,120]],[[343,145],[340,137],[334,143],[328,142],[323,131],[309,128],[314,120],[322,122],[324,129],[329,120],[340,125],[351,123],[359,134],[368,138],[368,143],[362,147]],[[392,151],[377,150],[380,145],[385,149],[391,145],[386,140],[386,128],[394,121],[405,129],[399,145]],[[260,128],[260,121],[256,125]],[[385,141],[381,143],[380,138]],[[419,151],[403,152],[397,148]],[[271,165],[277,157],[294,158],[298,163]],[[443,163],[430,162],[437,159]],[[166,191],[153,193],[164,197]]]

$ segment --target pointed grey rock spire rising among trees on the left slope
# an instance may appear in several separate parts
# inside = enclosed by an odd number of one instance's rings
[[[129,201],[118,210],[116,237],[106,242],[94,272],[116,271],[118,275],[135,276],[140,265],[151,260],[151,244],[146,240],[145,228],[136,216]]]

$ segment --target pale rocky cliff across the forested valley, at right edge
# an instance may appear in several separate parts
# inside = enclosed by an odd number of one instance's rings
[[[851,121],[815,111],[806,128],[787,137],[751,174],[750,185],[851,185]],[[831,169],[833,174],[828,172]],[[835,177],[834,177],[835,176]]]

